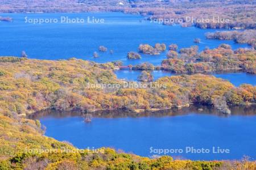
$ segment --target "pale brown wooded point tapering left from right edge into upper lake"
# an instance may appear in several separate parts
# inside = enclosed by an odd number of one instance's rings
[[[217,40],[234,40],[237,43],[247,43],[256,49],[256,30],[248,29],[245,31],[217,31],[208,32],[206,35],[207,39]]]

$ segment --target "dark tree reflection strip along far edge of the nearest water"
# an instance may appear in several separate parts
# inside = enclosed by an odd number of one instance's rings
[[[218,109],[212,108],[209,106],[191,106],[188,108],[182,109],[166,109],[160,111],[144,111],[141,113],[128,111],[128,110],[104,110],[104,111],[96,111],[92,114],[92,117],[97,118],[126,118],[126,117],[166,117],[166,116],[181,116],[186,114],[211,114],[220,117],[229,117],[232,115],[240,115],[240,116],[253,116],[256,115],[256,105],[251,106],[240,106],[240,107],[230,107],[231,114],[223,114]],[[81,116],[85,117],[85,113],[81,113],[79,109],[73,111],[56,111],[54,109],[47,109],[44,111],[36,112],[28,116],[30,119],[40,119],[42,117],[55,117],[55,118],[63,118],[63,117],[75,117]]]

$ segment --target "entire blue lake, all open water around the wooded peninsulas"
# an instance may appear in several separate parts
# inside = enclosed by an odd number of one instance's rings
[[[214,29],[183,28],[180,25],[167,26],[150,23],[142,16],[119,12],[89,12],[71,14],[0,14],[10,16],[14,22],[0,22],[1,56],[20,56],[25,50],[28,58],[67,59],[76,57],[99,63],[123,61],[124,65],[136,65],[151,62],[160,65],[166,58],[166,52],[159,56],[142,55],[142,59],[127,59],[129,51],[137,51],[139,44],[154,45],[157,42],[179,48],[199,45],[216,48],[222,43],[233,49],[248,47],[234,41],[207,40],[206,32]],[[26,23],[27,19],[53,19],[61,16],[70,19],[104,19],[104,23]],[[222,29],[224,30],[224,29]],[[220,31],[220,30],[219,30]],[[201,43],[193,40],[200,38]],[[98,52],[98,46],[104,45],[108,52]],[[113,50],[110,54],[109,50]],[[94,58],[93,53],[99,57]],[[115,71],[118,78],[137,80],[140,71]],[[167,71],[153,71],[155,80],[162,76],[174,75]],[[230,80],[235,86],[250,83],[255,86],[255,75],[246,73],[213,74]],[[233,108],[226,116],[213,109],[189,108],[154,113],[127,113],[108,111],[93,113],[90,124],[76,112],[44,111],[39,114],[42,125],[47,127],[46,135],[60,141],[71,142],[79,148],[113,147],[141,156],[163,155],[154,149],[182,150],[169,155],[175,158],[193,160],[241,159],[243,155],[256,158],[256,116],[253,108]],[[207,149],[208,154],[185,152],[186,147]],[[229,153],[214,154],[214,151],[229,150]],[[151,152],[152,151],[152,152]]]

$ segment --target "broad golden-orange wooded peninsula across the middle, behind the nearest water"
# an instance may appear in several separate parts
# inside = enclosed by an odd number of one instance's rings
[[[26,115],[42,109],[167,109],[204,104],[249,105],[255,87],[234,87],[210,75],[163,77],[138,84],[118,80],[114,63],[98,64],[81,59],[46,61],[0,58],[0,112]],[[143,85],[143,86],[142,86]]]

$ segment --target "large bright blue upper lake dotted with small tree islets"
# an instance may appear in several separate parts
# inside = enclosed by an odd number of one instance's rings
[[[183,28],[179,25],[167,26],[150,23],[142,16],[122,14],[119,12],[89,12],[73,14],[1,14],[10,16],[14,22],[0,22],[0,55],[20,56],[25,50],[29,58],[37,59],[67,59],[70,57],[89,59],[104,63],[121,60],[126,64],[151,62],[160,65],[166,58],[166,53],[159,56],[142,55],[142,59],[127,59],[129,51],[137,51],[139,44],[154,45],[157,42],[170,45],[175,43],[180,48],[199,45],[216,48],[222,43],[232,45],[233,49],[247,47],[246,44],[236,44],[234,41],[207,40],[206,32],[216,29],[199,29],[195,27]],[[61,16],[71,19],[85,19],[85,23],[60,23]],[[27,19],[57,19],[58,23],[33,24],[25,23]],[[86,23],[87,18],[104,19],[105,23]],[[221,31],[222,29],[219,29]],[[201,43],[193,40],[200,38]],[[93,58],[93,52],[98,46],[104,45],[114,51],[99,53]]]

